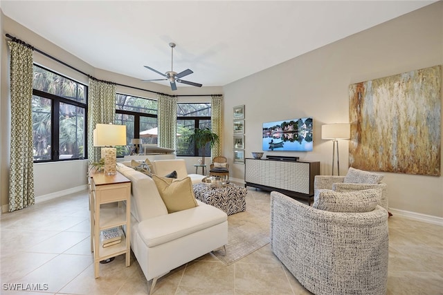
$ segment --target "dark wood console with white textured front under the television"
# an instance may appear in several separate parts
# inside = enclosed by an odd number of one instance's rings
[[[246,186],[280,191],[291,198],[314,198],[314,176],[320,175],[320,162],[245,159]]]

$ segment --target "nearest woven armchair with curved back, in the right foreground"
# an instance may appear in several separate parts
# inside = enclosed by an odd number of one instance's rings
[[[309,207],[271,192],[271,249],[316,295],[386,294],[388,212]]]

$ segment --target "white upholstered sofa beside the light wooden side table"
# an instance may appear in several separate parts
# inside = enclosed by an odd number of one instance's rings
[[[173,169],[179,178],[183,176],[180,163]],[[170,173],[170,165],[172,162],[162,162],[156,168]],[[170,270],[227,244],[224,211],[197,200],[197,207],[168,213],[152,178],[122,163],[118,163],[118,171],[132,183],[131,248],[148,281],[148,294]]]

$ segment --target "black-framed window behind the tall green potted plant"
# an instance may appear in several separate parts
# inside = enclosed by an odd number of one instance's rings
[[[210,103],[177,104],[177,155],[201,157],[201,150],[195,144],[190,145],[188,137],[195,129],[211,128]],[[205,156],[210,157],[210,146],[206,146]]]

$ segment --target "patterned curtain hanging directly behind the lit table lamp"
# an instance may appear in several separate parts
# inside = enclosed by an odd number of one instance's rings
[[[88,89],[88,158],[100,160],[100,147],[93,145],[96,124],[114,124],[116,118],[116,84],[89,78]]]

